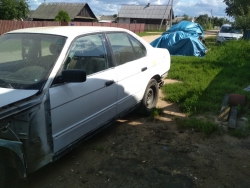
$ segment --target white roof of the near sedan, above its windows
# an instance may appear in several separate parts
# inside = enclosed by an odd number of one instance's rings
[[[51,27],[32,27],[25,29],[18,29],[8,33],[40,33],[40,34],[53,34],[62,35],[66,37],[77,36],[85,33],[92,32],[105,32],[105,31],[127,31],[126,29],[116,27],[96,27],[96,26],[51,26]]]

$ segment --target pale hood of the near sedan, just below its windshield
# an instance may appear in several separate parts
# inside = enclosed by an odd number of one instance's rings
[[[0,88],[0,108],[35,95],[39,90]]]

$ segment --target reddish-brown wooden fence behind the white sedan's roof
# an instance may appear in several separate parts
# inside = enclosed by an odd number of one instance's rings
[[[10,21],[0,20],[0,35],[8,31],[29,27],[45,26],[103,26],[119,27],[128,29],[134,33],[144,32],[145,24],[121,24],[121,23],[98,23],[98,22],[55,22],[55,21]]]

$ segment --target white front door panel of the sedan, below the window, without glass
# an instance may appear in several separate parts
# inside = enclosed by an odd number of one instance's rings
[[[106,86],[106,82],[114,84]],[[113,68],[87,77],[86,82],[50,89],[54,152],[69,145],[115,115],[117,84]]]

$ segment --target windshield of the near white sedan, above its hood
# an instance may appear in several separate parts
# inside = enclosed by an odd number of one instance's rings
[[[42,89],[65,37],[15,33],[0,37],[0,88]]]

